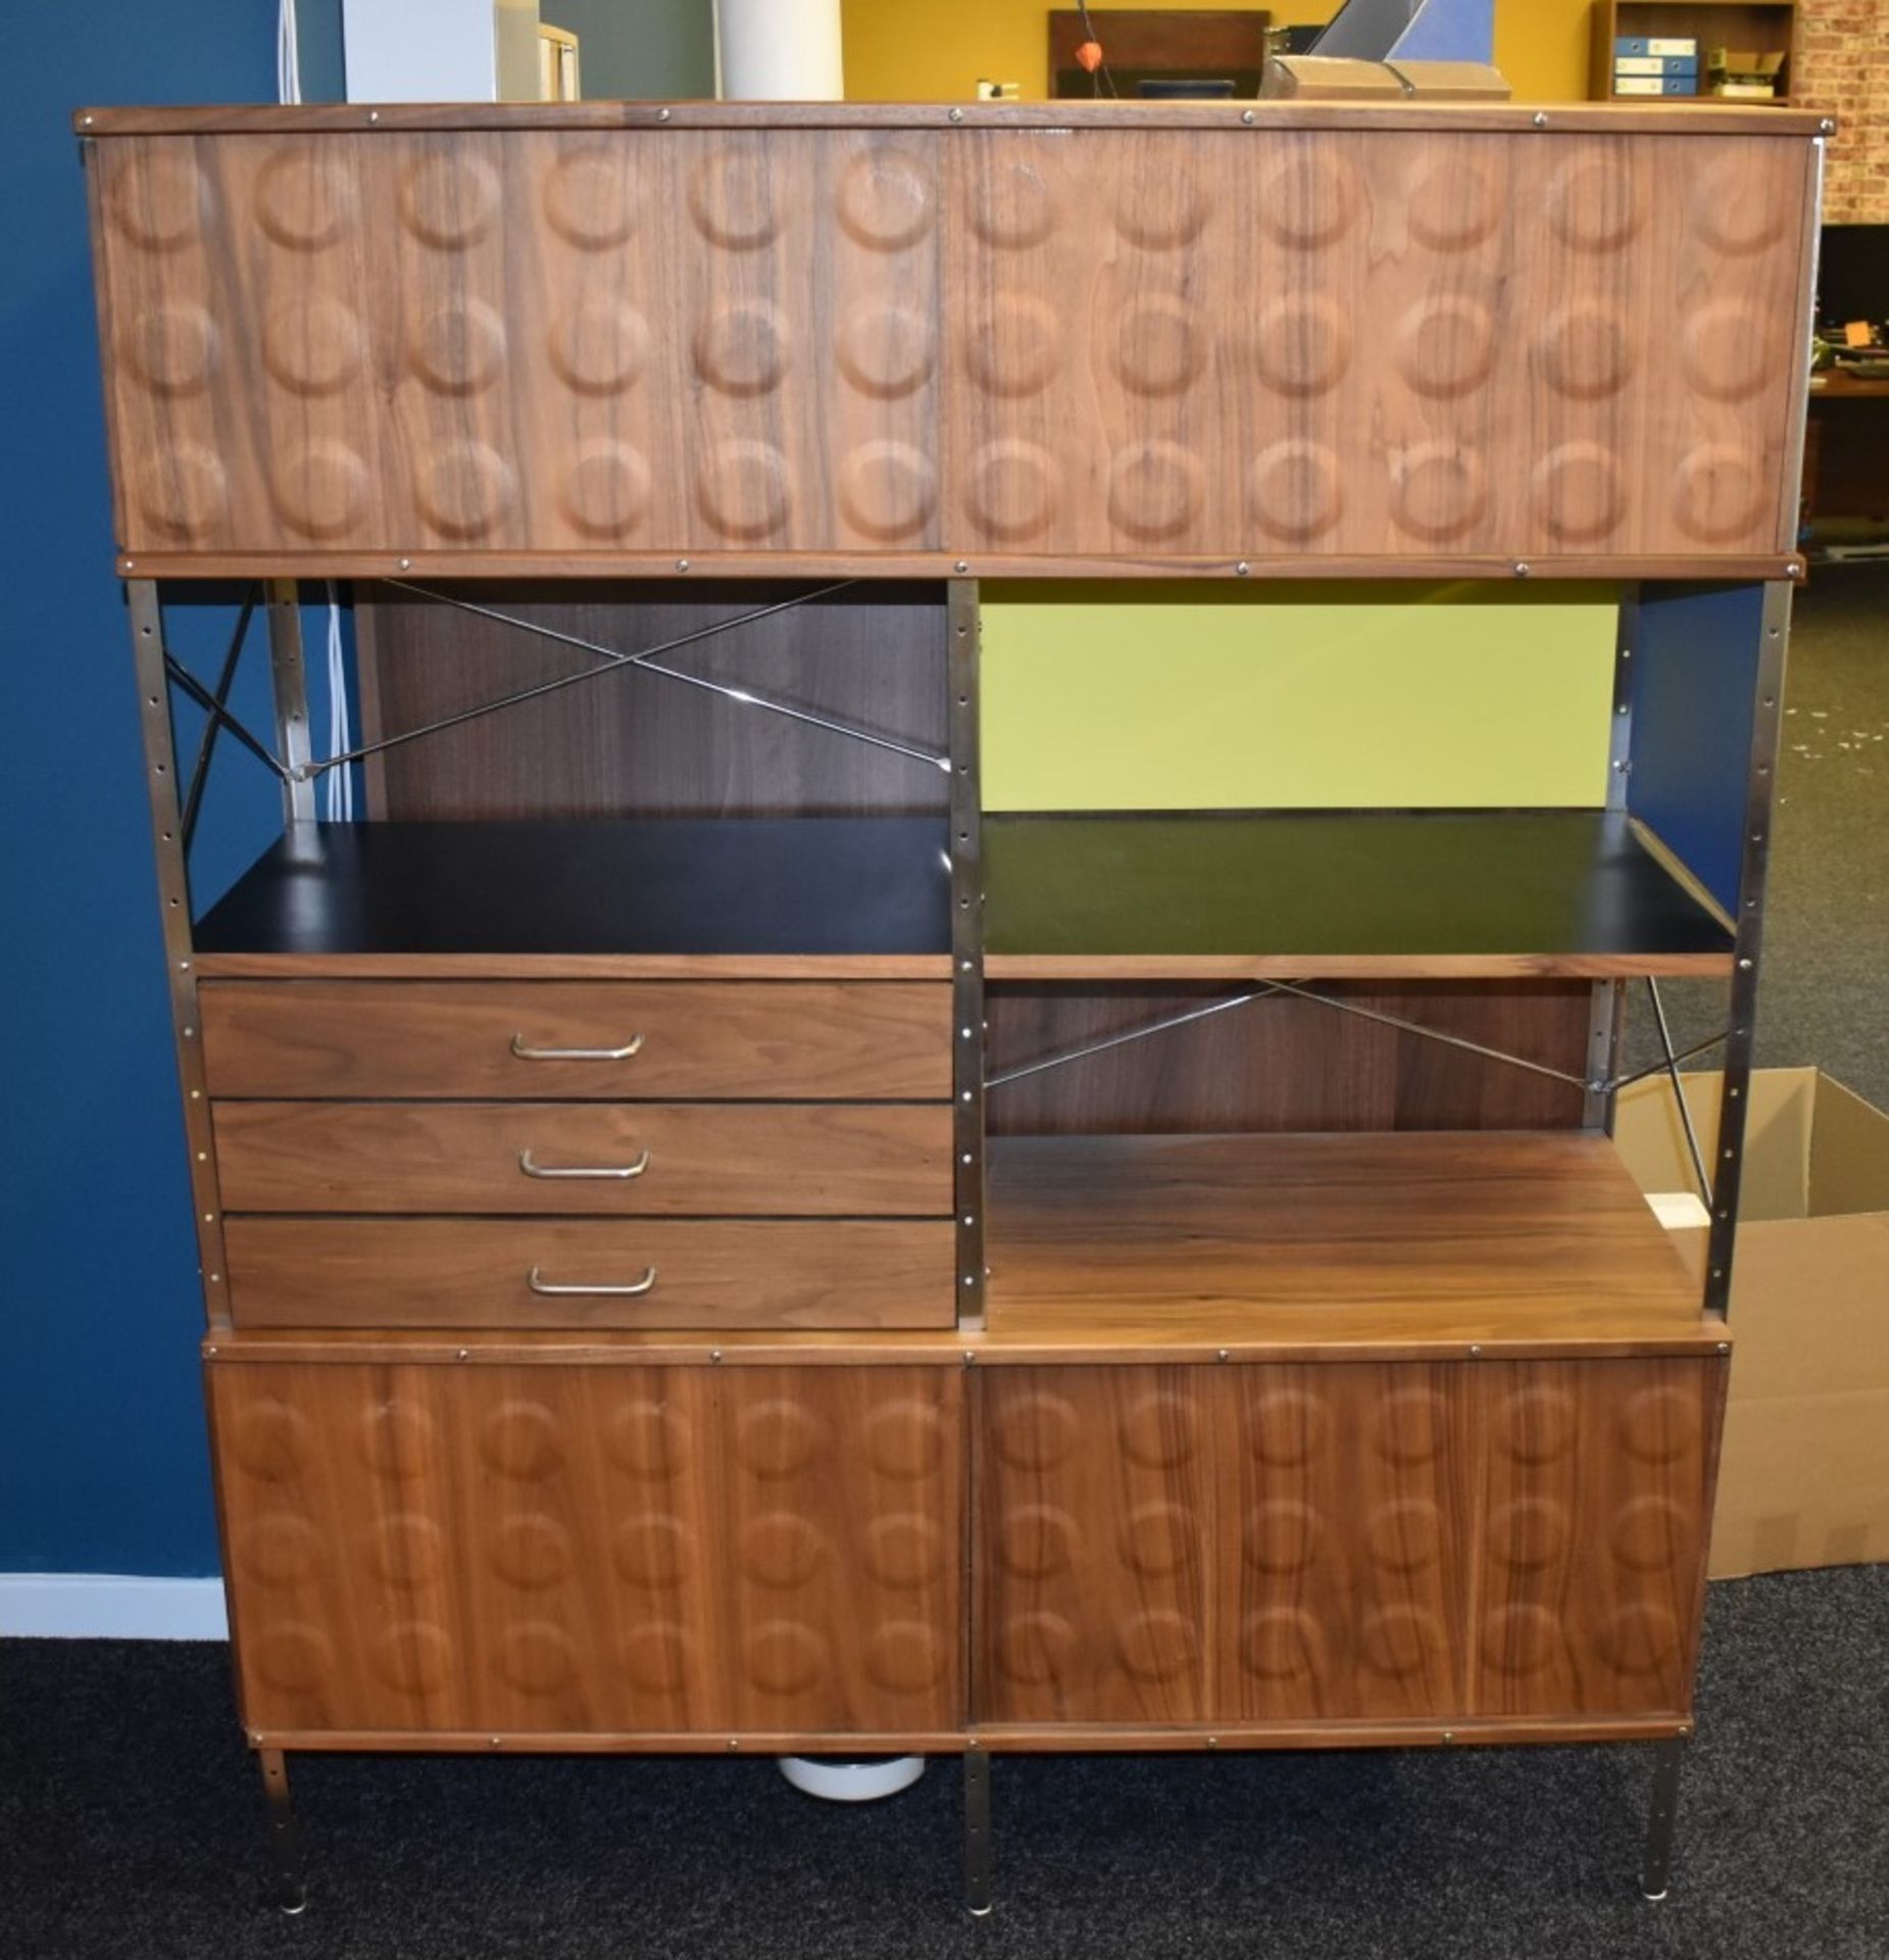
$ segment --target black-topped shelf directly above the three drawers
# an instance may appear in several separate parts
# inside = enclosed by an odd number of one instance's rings
[[[253,956],[905,958],[944,972],[943,817],[292,827],[198,921],[204,974]],[[388,970],[386,964],[374,970]],[[752,970],[752,968],[745,968]],[[876,970],[886,970],[878,966]]]

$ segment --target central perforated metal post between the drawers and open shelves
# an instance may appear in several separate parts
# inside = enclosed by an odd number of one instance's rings
[[[950,580],[950,1105],[958,1325],[984,1325],[984,858],[978,772],[978,586]]]

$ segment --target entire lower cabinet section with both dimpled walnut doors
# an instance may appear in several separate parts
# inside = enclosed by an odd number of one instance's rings
[[[225,1358],[245,1713],[364,1746],[1677,1717],[1724,1368]]]

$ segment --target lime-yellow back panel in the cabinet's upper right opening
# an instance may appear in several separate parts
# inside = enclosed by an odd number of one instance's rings
[[[986,584],[988,809],[1607,800],[1611,586]]]

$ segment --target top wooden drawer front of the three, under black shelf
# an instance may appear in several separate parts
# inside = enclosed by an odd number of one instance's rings
[[[950,1096],[939,982],[212,980],[202,1015],[212,1096]]]

